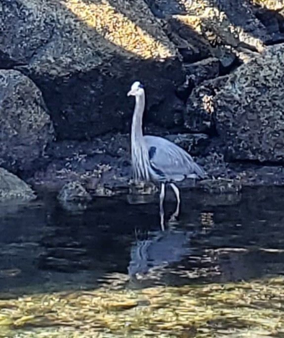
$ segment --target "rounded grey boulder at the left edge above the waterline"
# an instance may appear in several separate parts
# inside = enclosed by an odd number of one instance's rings
[[[53,126],[41,91],[17,70],[0,70],[0,166],[35,171]]]

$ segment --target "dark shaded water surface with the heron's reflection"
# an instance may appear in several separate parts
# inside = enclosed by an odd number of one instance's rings
[[[182,192],[178,221],[168,220],[175,207],[169,197],[164,232],[157,199],[98,198],[73,213],[52,194],[28,205],[0,204],[1,296],[284,274],[284,188]]]

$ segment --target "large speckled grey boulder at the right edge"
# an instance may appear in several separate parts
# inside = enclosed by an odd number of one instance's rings
[[[284,164],[284,44],[194,89],[187,118],[214,126],[229,161]],[[189,126],[189,124],[188,124]]]

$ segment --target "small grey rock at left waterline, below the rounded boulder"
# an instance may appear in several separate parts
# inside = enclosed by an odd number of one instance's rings
[[[6,169],[0,168],[0,202],[32,201],[34,199],[36,195],[27,183]]]

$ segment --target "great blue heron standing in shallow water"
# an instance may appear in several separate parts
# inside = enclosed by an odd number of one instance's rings
[[[163,200],[165,184],[173,189],[177,206],[173,216],[177,217],[180,207],[180,193],[174,182],[185,178],[205,176],[205,171],[182,148],[167,139],[153,135],[143,135],[142,117],[145,107],[143,85],[135,81],[127,96],[135,96],[135,108],[131,126],[131,160],[134,180],[161,182],[160,211],[163,226]]]

